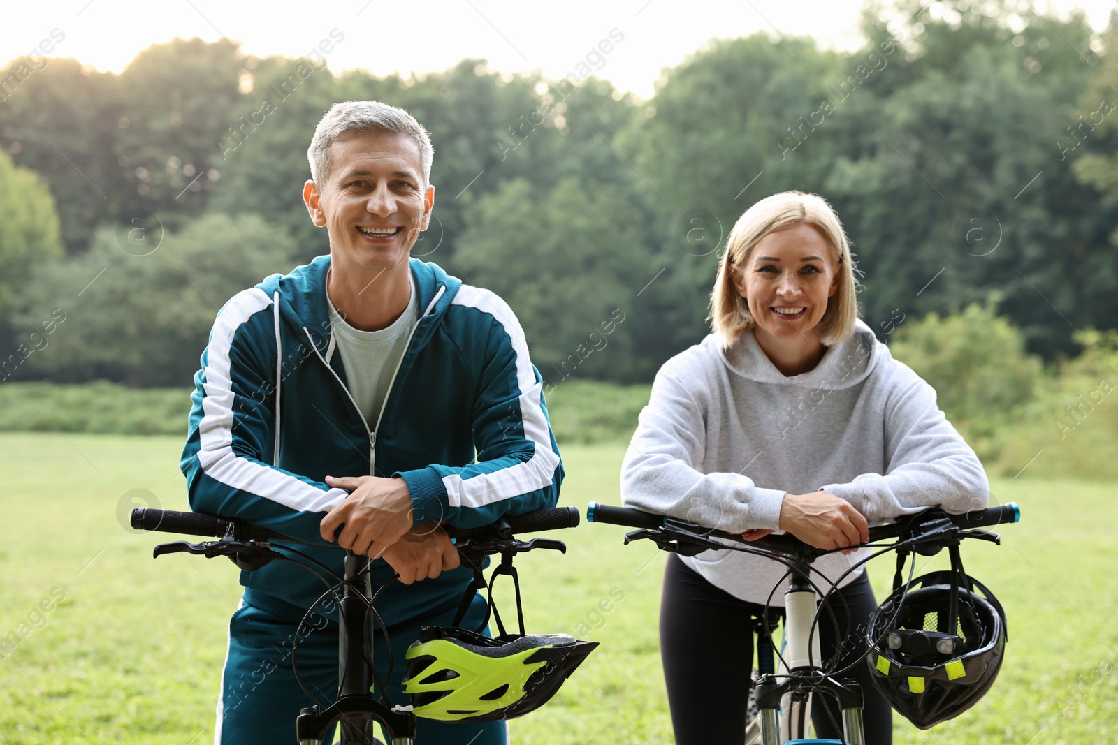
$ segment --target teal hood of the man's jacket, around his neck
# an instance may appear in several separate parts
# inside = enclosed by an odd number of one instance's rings
[[[451,277],[439,266],[419,259],[409,259],[408,266],[419,294],[419,325],[414,343],[421,345],[451,306],[462,280]],[[275,274],[257,285],[268,297],[280,294],[280,316],[294,328],[296,336],[305,338],[310,335],[323,355],[329,354],[331,342],[330,311],[323,292],[329,269],[330,256],[319,256],[310,264],[295,267],[291,274]]]

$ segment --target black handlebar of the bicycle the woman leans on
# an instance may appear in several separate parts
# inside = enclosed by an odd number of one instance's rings
[[[871,527],[870,543],[883,541],[885,538],[896,538],[904,531],[912,517],[916,517],[916,515],[902,517],[898,522],[889,525]],[[947,517],[951,520],[951,523],[960,528],[989,527],[1002,523],[1018,522],[1021,519],[1021,508],[1015,502],[1011,502],[995,507],[987,507],[986,509],[975,509],[960,515],[947,515]],[[664,525],[667,520],[674,518],[666,515],[646,513],[641,509],[633,509],[632,507],[615,507],[613,505],[601,505],[596,502],[591,502],[586,508],[586,519],[589,523],[608,523],[612,525],[623,525],[625,527],[654,531]],[[701,525],[689,524],[685,520],[674,522],[688,526],[694,533],[714,535],[723,538],[735,538],[758,548],[776,551],[779,553],[794,553],[797,547],[805,545],[792,535],[768,535],[762,538],[757,538],[756,541],[746,542],[736,533],[727,533],[724,531],[712,529]]]

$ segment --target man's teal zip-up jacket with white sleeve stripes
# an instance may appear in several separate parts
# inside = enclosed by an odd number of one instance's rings
[[[342,571],[344,551],[319,523],[348,493],[326,476],[399,476],[415,524],[457,527],[553,507],[563,477],[542,379],[524,334],[496,295],[410,260],[420,317],[379,421],[353,403],[330,328],[321,256],[235,295],[218,314],[195,375],[180,467],[190,506],[318,544],[307,553]],[[373,588],[391,576],[373,562]],[[462,596],[464,567],[377,601],[385,623],[423,618]],[[306,610],[325,586],[291,562],[243,572],[246,601]],[[282,605],[281,605],[282,608]],[[291,609],[293,612],[295,609]]]

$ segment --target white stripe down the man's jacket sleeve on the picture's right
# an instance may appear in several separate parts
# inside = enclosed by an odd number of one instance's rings
[[[542,384],[537,382],[532,372],[524,332],[508,304],[487,289],[463,285],[451,303],[487,313],[509,335],[517,355],[521,424],[524,428],[524,438],[536,447],[531,459],[527,462],[467,479],[457,474],[444,477],[443,486],[446,488],[447,502],[452,507],[481,507],[542,489],[553,480],[556,468],[559,467],[559,456],[551,449],[548,420],[540,407]]]

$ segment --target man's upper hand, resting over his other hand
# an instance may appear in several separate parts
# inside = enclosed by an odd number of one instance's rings
[[[411,493],[401,478],[379,476],[326,477],[326,486],[349,489],[350,496],[322,518],[325,541],[344,523],[338,545],[354,554],[379,556],[411,528]]]

